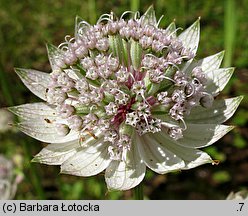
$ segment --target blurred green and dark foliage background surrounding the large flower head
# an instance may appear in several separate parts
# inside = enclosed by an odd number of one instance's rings
[[[161,26],[174,19],[186,28],[201,17],[201,39],[197,58],[225,50],[222,66],[236,67],[222,97],[245,95],[238,111],[227,122],[236,128],[206,150],[220,164],[157,175],[148,171],[144,180],[147,199],[225,199],[231,191],[248,186],[248,1],[247,0],[0,0],[0,107],[39,101],[22,84],[14,67],[50,71],[46,42],[59,45],[73,35],[75,16],[91,24],[103,13],[126,10],[141,13],[153,4]],[[0,116],[2,118],[2,116]],[[104,175],[75,177],[60,175],[59,167],[31,163],[45,143],[21,132],[0,133],[0,153],[16,162],[24,175],[15,199],[132,199],[132,191],[108,192]]]

